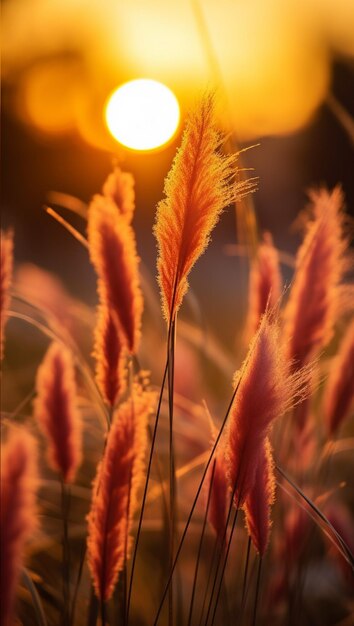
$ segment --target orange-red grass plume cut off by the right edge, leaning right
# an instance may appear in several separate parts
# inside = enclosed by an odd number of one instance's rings
[[[334,359],[324,395],[324,416],[331,436],[349,414],[354,400],[354,322],[341,342]]]

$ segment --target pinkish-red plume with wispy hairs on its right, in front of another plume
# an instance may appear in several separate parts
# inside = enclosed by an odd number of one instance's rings
[[[226,460],[238,506],[254,485],[260,450],[272,422],[299,401],[307,376],[304,370],[289,372],[278,320],[266,313],[234,381],[239,386],[230,410]]]

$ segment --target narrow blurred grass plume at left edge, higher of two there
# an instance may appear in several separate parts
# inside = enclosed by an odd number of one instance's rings
[[[10,304],[10,286],[13,270],[13,235],[1,231],[0,250],[0,361],[4,356],[4,333],[7,309]]]

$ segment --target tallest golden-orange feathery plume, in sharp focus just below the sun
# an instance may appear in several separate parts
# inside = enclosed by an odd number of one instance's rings
[[[188,274],[204,252],[225,206],[252,189],[232,180],[235,156],[220,153],[223,137],[214,118],[212,96],[190,114],[171,170],[165,198],[157,206],[158,280],[166,321],[173,319],[188,289]]]

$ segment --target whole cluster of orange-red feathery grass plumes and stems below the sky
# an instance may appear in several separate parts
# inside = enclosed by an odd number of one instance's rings
[[[55,311],[26,300],[16,283],[11,289],[12,236],[2,235],[2,337],[14,318],[50,341],[33,390],[3,415],[6,626],[16,613],[28,626],[350,619],[352,473],[338,459],[353,453],[354,343],[339,188],[311,194],[290,285],[271,235],[260,240],[250,262],[246,354],[220,359],[215,342],[214,352],[205,349],[206,360],[215,365],[216,354],[223,363],[226,411],[212,384],[213,419],[202,395],[197,403],[175,385],[179,344],[195,336],[186,323],[177,333],[192,268],[223,209],[254,187],[253,179],[239,182],[237,155],[223,152],[214,101],[205,97],[187,120],[157,207],[168,329],[161,384],[149,372],[157,350],[145,349],[130,173],[108,176],[82,233],[61,220],[97,276],[96,315],[86,311],[89,353],[75,320],[61,327]],[[83,309],[77,317],[81,324]],[[321,592],[328,577],[333,589]]]

